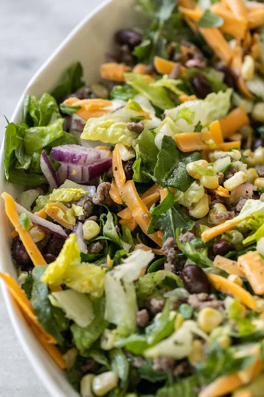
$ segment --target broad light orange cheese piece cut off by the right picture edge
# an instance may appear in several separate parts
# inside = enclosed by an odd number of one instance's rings
[[[245,273],[256,295],[264,294],[264,260],[257,251],[249,251],[237,258],[239,269]]]

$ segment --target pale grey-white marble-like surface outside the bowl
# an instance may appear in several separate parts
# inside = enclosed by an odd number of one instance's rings
[[[0,1],[0,142],[23,89],[70,30],[102,0]],[[49,397],[27,362],[0,292],[0,397]]]

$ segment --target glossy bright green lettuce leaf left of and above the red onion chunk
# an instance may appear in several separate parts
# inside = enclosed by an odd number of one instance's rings
[[[40,150],[63,135],[64,119],[60,118],[46,127],[31,127],[26,129],[24,137],[25,152],[29,155],[34,150]]]

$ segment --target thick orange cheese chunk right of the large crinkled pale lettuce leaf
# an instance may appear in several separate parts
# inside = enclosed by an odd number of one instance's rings
[[[224,138],[230,137],[244,125],[249,125],[249,122],[247,113],[241,106],[219,121]]]

